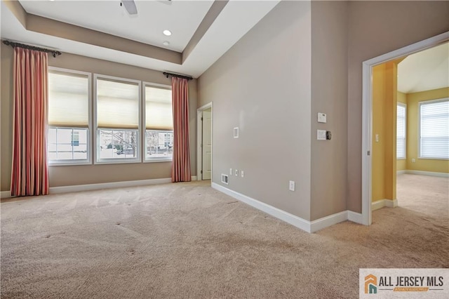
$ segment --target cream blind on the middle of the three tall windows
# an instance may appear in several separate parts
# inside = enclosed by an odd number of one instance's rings
[[[139,84],[97,78],[98,128],[139,127]]]

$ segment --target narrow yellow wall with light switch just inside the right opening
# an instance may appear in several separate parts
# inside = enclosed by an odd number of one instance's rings
[[[372,201],[396,199],[396,74],[397,62],[373,67]]]

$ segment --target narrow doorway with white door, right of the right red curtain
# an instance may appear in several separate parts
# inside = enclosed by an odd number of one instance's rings
[[[196,110],[198,180],[212,180],[213,107],[212,102]]]

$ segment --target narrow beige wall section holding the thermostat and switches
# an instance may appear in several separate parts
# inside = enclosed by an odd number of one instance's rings
[[[347,2],[311,3],[311,220],[346,211]],[[326,113],[326,124],[317,114]],[[331,140],[316,140],[316,130]]]

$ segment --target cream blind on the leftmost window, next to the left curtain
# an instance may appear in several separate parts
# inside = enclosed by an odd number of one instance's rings
[[[89,77],[48,71],[48,125],[87,128],[89,125]]]

